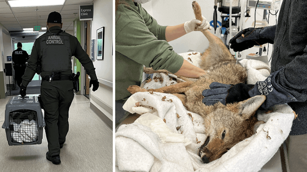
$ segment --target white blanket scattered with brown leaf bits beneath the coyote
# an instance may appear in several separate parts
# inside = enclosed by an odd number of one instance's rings
[[[270,74],[270,68],[261,61],[240,63],[248,69],[248,83],[255,84]],[[148,84],[157,86],[147,83],[144,88],[150,87]],[[221,158],[204,164],[197,155],[206,139],[203,119],[187,111],[176,96],[138,92],[123,108],[142,115],[134,123],[120,126],[115,134],[116,171],[256,172],[277,152],[294,119],[286,104],[274,106],[269,114],[258,112],[258,119],[266,123],[255,135],[236,144]]]

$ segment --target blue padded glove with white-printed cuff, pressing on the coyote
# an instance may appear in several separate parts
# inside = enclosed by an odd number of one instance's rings
[[[298,100],[287,89],[278,83],[278,72],[273,72],[264,81],[258,81],[255,85],[239,83],[235,85],[212,82],[210,89],[204,90],[203,103],[213,105],[220,101],[222,104],[247,100],[256,95],[265,95],[266,100],[260,109],[267,109],[276,104],[297,102]]]

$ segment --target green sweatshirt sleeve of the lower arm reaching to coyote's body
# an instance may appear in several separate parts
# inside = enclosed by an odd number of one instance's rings
[[[160,34],[163,33],[161,31],[163,28],[165,38],[166,27],[161,27],[159,30],[156,24],[150,28]],[[159,40],[142,20],[126,23],[115,39],[116,51],[154,70],[165,69],[176,73],[183,64],[183,57],[175,53],[168,42]]]

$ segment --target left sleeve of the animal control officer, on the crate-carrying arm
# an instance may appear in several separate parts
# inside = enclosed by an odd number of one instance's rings
[[[21,77],[23,86],[28,86],[29,82],[32,81],[36,73],[38,57],[39,57],[39,41],[38,39],[36,39],[32,47],[28,65],[25,68],[25,74]]]

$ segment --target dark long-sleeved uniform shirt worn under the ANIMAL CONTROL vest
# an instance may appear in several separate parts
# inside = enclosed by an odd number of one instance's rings
[[[60,27],[54,26],[50,27],[49,31],[51,33],[58,33],[60,31]],[[39,38],[44,37],[49,31],[47,31],[45,34],[41,35]],[[67,34],[69,35],[69,34]],[[30,55],[30,59],[25,71],[25,75],[22,76],[22,85],[27,86],[29,82],[31,82],[33,76],[36,73],[37,68],[37,60],[40,57],[40,41],[39,38],[37,38],[34,42],[32,52]],[[82,66],[85,68],[86,73],[91,77],[91,79],[96,80],[97,76],[95,73],[95,68],[93,65],[93,62],[87,55],[87,53],[82,49],[80,43],[78,42],[78,39],[72,35],[69,35],[69,42],[70,42],[70,48],[72,51],[72,56],[75,56]],[[56,51],[56,50],[55,50]],[[62,75],[72,75],[72,69],[61,71]],[[41,77],[52,75],[51,71],[42,71]]]

